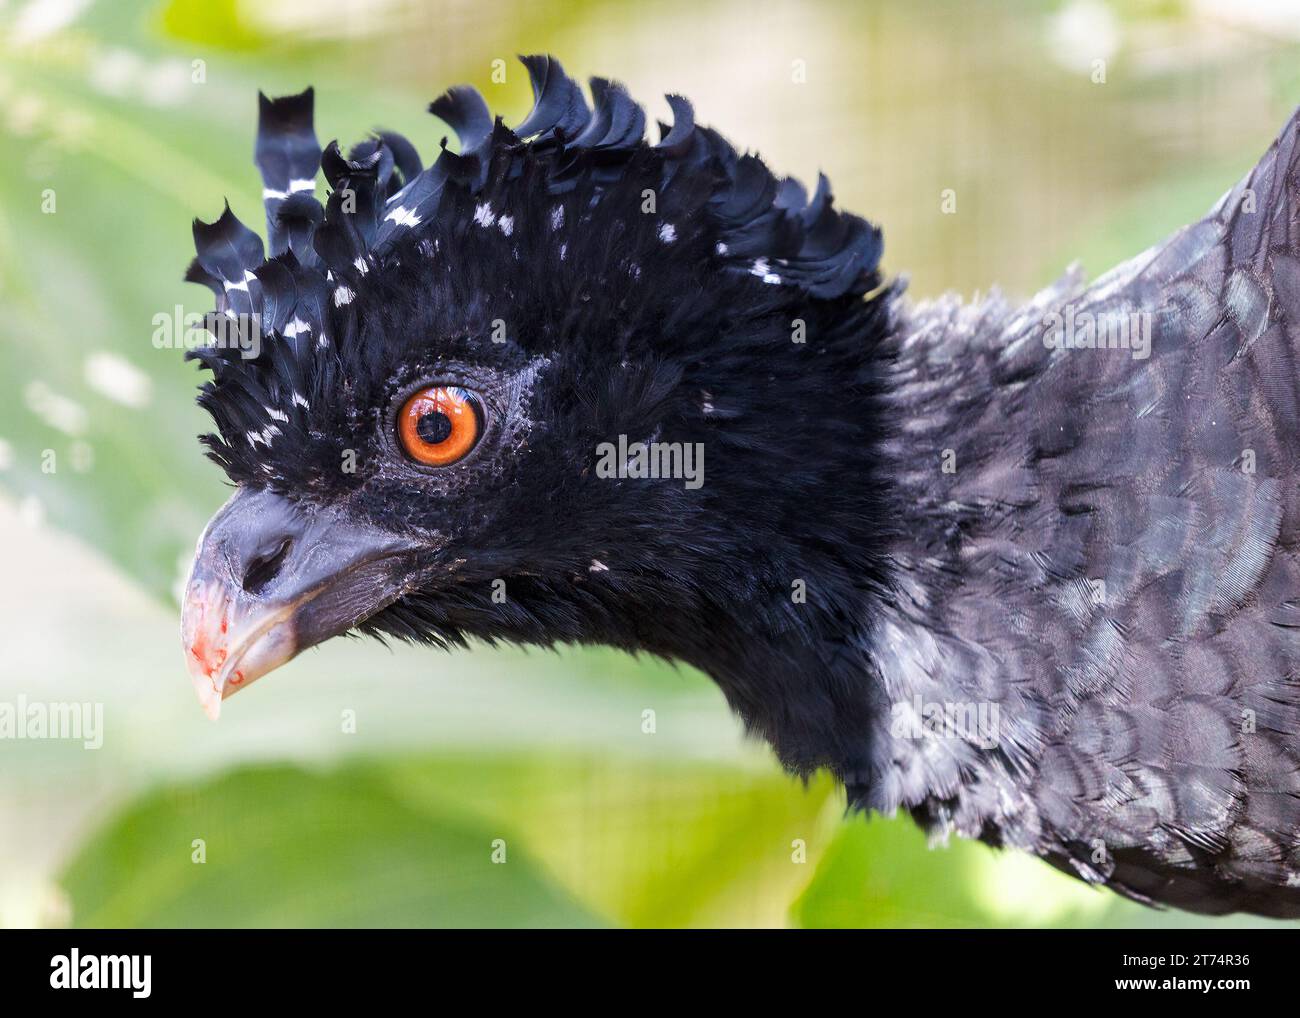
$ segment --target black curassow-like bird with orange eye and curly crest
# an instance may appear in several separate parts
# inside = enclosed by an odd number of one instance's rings
[[[209,712],[347,631],[607,644],[850,807],[1300,915],[1300,120],[1092,285],[913,304],[824,178],[524,64],[429,166],[263,98],[269,252],[194,225]]]

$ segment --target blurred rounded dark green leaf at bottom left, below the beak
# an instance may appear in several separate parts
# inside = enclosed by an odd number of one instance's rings
[[[62,885],[82,927],[599,923],[510,836],[355,768],[250,767],[150,794],[84,844]]]

